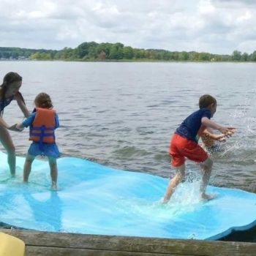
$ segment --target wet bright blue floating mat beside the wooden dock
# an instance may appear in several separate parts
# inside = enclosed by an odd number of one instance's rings
[[[35,160],[23,184],[23,157],[10,178],[0,152],[0,222],[34,230],[70,233],[215,240],[256,225],[256,195],[208,186],[213,200],[200,200],[200,181],[180,184],[161,203],[167,178],[116,170],[73,157],[58,159],[59,191],[50,190],[48,162]]]

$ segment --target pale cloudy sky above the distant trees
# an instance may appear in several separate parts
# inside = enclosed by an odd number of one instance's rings
[[[255,0],[1,0],[0,47],[256,50]]]

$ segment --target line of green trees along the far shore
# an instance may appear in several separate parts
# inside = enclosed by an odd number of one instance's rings
[[[138,49],[124,46],[120,42],[83,42],[77,48],[64,48],[62,50],[0,47],[0,59],[64,61],[256,61],[256,50],[251,54],[234,50],[231,55],[222,55],[198,53],[196,51]]]

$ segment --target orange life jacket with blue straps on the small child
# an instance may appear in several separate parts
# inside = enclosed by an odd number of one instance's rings
[[[35,108],[36,116],[30,126],[29,140],[39,143],[55,143],[55,110]]]

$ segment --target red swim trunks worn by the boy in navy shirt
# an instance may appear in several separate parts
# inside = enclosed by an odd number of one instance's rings
[[[195,141],[188,140],[174,133],[170,140],[169,153],[172,157],[171,165],[178,167],[183,165],[185,157],[195,162],[205,162],[208,154]]]

